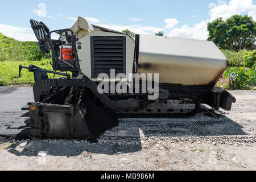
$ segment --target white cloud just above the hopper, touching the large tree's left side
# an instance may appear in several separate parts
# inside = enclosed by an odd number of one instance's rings
[[[187,39],[206,40],[208,37],[207,20],[189,27],[187,24],[181,28],[173,29],[168,36]]]

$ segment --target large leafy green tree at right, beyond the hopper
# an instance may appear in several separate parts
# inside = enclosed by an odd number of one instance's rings
[[[207,40],[212,40],[222,49],[250,48],[256,40],[256,22],[248,15],[233,15],[226,21],[218,18],[208,23],[207,29]]]

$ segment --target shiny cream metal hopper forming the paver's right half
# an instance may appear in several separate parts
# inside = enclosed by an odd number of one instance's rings
[[[159,82],[214,86],[227,67],[210,41],[140,35],[138,73],[159,73]]]

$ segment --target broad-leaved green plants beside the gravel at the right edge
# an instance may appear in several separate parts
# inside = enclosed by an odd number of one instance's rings
[[[229,84],[226,86],[231,90],[255,89],[255,69],[244,69],[243,67],[229,67],[225,72],[225,78],[229,77]]]

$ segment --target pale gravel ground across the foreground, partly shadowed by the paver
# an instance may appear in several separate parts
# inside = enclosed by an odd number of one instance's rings
[[[119,119],[98,143],[5,138],[0,170],[256,170],[256,91],[231,93],[218,118]]]

